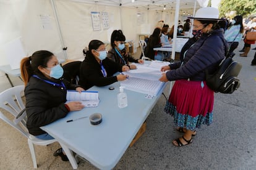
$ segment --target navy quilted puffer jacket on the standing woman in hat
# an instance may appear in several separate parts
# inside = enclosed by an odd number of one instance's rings
[[[187,50],[181,54],[184,54],[182,61],[169,65],[171,70],[166,73],[169,81],[188,78],[193,81],[205,80],[205,70],[213,73],[228,49],[221,29],[203,34],[194,44],[192,41],[184,45]]]

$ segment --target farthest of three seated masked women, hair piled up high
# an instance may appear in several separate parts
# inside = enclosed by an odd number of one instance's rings
[[[136,65],[129,65],[129,62],[143,63],[143,60],[134,59],[134,57],[128,54],[126,46],[124,45],[125,41],[126,36],[124,36],[122,31],[114,30],[111,34],[112,49],[108,51],[108,58],[120,65],[127,65],[130,69],[136,69]]]

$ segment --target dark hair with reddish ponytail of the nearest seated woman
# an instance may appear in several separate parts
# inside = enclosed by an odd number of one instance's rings
[[[36,51],[30,57],[25,57],[20,62],[20,73],[22,79],[27,85],[30,77],[37,73],[41,74],[38,70],[39,66],[47,67],[47,63],[53,57],[53,53],[49,51]]]

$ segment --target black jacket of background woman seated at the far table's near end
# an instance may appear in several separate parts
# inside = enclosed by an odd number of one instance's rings
[[[161,47],[160,37],[150,36],[150,38],[148,39],[147,47],[145,49],[145,57],[154,60],[156,51],[154,51],[153,48],[156,47]]]

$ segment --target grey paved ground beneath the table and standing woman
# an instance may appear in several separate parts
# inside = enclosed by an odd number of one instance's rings
[[[234,59],[243,65],[241,87],[234,94],[215,94],[213,124],[198,129],[191,145],[174,147],[171,140],[181,134],[174,130],[173,118],[163,112],[161,97],[148,116],[147,131],[127,148],[114,169],[255,169],[256,67],[250,62],[256,51],[248,57],[238,57],[237,51]],[[4,76],[0,80],[2,91],[9,85]],[[22,83],[14,79],[14,84]],[[33,169],[25,137],[3,121],[0,127],[0,169]],[[35,146],[38,169],[72,169],[69,162],[52,156],[58,148],[59,144]],[[78,169],[96,168],[81,161]]]

